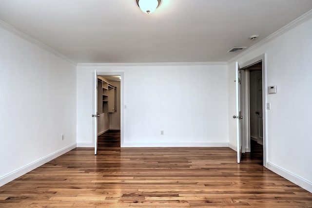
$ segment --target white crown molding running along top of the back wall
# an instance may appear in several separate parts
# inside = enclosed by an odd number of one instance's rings
[[[226,61],[220,62],[159,62],[159,63],[78,63],[77,66],[202,66],[202,65],[228,65]]]

